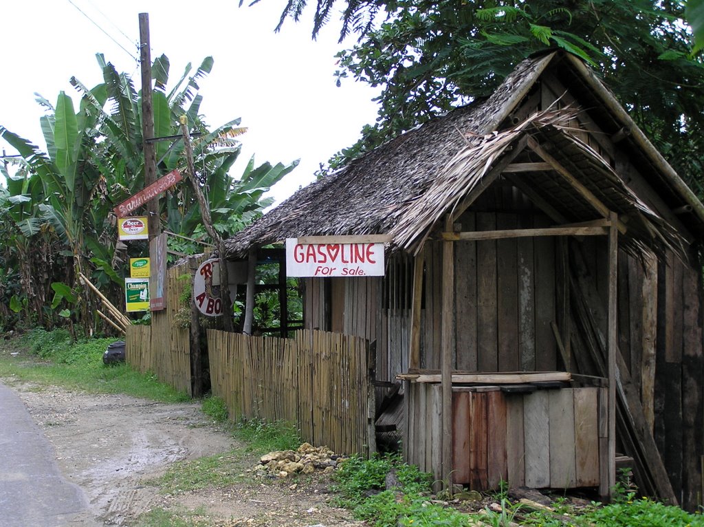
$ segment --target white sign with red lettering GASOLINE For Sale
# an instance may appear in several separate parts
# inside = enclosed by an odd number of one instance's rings
[[[383,243],[297,243],[286,240],[287,276],[383,276]]]

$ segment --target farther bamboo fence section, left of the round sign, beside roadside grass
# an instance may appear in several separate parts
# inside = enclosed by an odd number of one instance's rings
[[[183,294],[184,287],[191,287],[187,264],[170,268],[166,280],[166,309],[152,312],[151,325],[127,327],[125,358],[137,371],[155,373],[163,383],[191,395],[189,328],[180,323],[190,316]],[[184,310],[185,315],[177,316]]]

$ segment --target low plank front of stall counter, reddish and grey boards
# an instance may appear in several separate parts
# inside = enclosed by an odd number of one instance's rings
[[[433,461],[441,450],[439,384],[407,387],[406,458],[439,478]],[[453,387],[453,483],[473,490],[493,490],[501,481],[532,488],[598,485],[600,390],[505,394],[498,387]]]

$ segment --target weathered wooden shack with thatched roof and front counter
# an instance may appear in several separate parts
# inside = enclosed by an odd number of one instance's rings
[[[703,233],[704,206],[608,87],[551,52],[227,247],[386,241],[384,277],[304,280],[304,325],[376,342],[379,395],[403,380],[406,459],[439,479],[608,495],[623,454],[641,492],[693,509]]]

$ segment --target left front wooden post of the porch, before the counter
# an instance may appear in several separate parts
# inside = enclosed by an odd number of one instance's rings
[[[448,215],[445,230],[453,229],[452,216]],[[453,300],[455,294],[454,244],[442,244],[442,334],[441,334],[441,385],[442,385],[442,481],[452,495],[452,356],[454,333]]]

